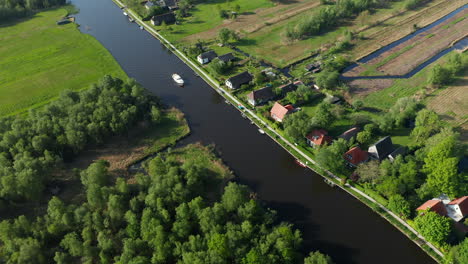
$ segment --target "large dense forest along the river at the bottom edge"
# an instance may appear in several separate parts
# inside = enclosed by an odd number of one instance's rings
[[[85,201],[53,197],[44,216],[0,223],[2,263],[306,263],[301,234],[243,185],[226,182],[197,146],[160,153],[134,179],[97,161],[80,174]],[[187,154],[188,153],[188,154]]]

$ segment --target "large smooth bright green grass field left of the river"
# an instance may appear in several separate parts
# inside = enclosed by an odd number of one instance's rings
[[[126,78],[96,39],[73,23],[56,25],[66,14],[52,9],[0,27],[0,116],[87,88],[105,74]]]

